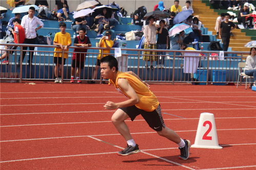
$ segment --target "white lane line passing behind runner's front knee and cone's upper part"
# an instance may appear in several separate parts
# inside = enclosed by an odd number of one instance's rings
[[[219,117],[219,119],[232,119],[232,118],[256,118],[256,117]],[[190,119],[199,119],[199,118],[166,118],[164,120],[190,120]],[[125,120],[126,122],[130,122],[130,120]],[[144,119],[136,119],[134,122],[144,121]],[[93,122],[66,122],[66,123],[49,123],[49,124],[25,124],[25,125],[5,125],[0,126],[0,128],[6,127],[22,127],[22,126],[45,126],[45,125],[68,125],[68,124],[94,124],[94,123],[111,123],[111,120],[105,121],[93,121]]]

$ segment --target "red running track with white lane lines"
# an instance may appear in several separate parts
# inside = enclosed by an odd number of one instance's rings
[[[165,124],[194,143],[199,116],[213,113],[223,149],[175,143],[141,116],[127,125],[141,153],[116,152],[126,142],[113,127],[107,101],[126,98],[105,84],[1,83],[1,169],[255,169],[256,95],[243,86],[151,85]]]

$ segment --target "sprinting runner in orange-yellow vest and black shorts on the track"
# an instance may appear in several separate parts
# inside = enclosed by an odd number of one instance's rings
[[[140,152],[139,145],[132,138],[125,120],[130,117],[133,121],[137,115],[142,115],[149,127],[160,136],[177,143],[181,150],[180,159],[188,159],[190,141],[181,139],[173,130],[167,128],[161,114],[161,107],[156,96],[149,90],[149,85],[143,82],[132,71],[121,72],[118,70],[117,60],[113,56],[101,59],[101,75],[103,79],[109,79],[117,91],[123,93],[128,99],[114,103],[108,101],[105,109],[117,109],[111,117],[112,123],[119,133],[127,141],[127,147],[118,152],[118,155],[127,156]]]

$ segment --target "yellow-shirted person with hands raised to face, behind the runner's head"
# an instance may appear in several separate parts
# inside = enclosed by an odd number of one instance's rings
[[[98,73],[98,69],[100,68],[101,66],[101,62],[100,60],[103,58],[103,57],[106,57],[108,56],[109,54],[107,53],[110,53],[110,48],[112,48],[114,42],[110,39],[111,38],[111,31],[106,31],[106,36],[103,36],[99,42],[99,47],[102,47],[102,48],[105,48],[103,51],[100,50],[99,51],[99,55],[97,56],[97,61],[96,61],[96,64],[95,64],[95,68],[93,70],[93,75],[92,75],[92,81],[89,81],[88,83],[90,84],[94,84],[95,81],[97,79],[97,73]]]

